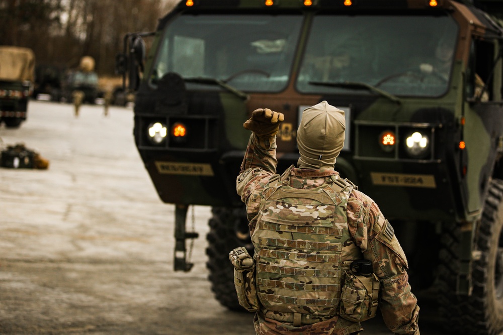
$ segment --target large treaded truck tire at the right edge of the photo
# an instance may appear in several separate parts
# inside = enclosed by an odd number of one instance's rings
[[[446,330],[466,335],[497,335],[503,331],[503,181],[494,179],[485,200],[473,262],[473,292],[455,294],[459,269],[459,227],[444,227],[439,268],[440,314]]]

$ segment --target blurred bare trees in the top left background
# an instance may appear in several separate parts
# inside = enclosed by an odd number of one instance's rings
[[[0,45],[32,48],[37,64],[71,68],[82,56],[113,74],[124,35],[152,31],[177,0],[0,0]]]

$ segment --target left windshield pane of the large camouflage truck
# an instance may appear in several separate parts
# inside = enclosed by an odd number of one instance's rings
[[[184,78],[217,79],[239,90],[280,91],[290,76],[302,19],[301,15],[179,16],[166,29],[151,83],[177,72]]]

